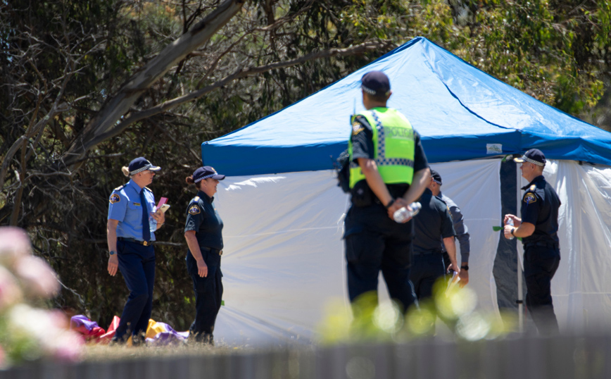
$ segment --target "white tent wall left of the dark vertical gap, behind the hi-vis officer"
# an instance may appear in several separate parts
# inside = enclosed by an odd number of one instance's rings
[[[499,166],[498,159],[432,165],[443,176],[443,192],[465,213],[470,286],[492,312],[498,311],[492,265],[500,233],[491,227],[501,217]],[[225,224],[218,339],[307,343],[330,302],[342,302],[350,313],[341,240],[348,197],[333,171],[227,177],[215,204]],[[380,292],[384,297],[382,280]]]

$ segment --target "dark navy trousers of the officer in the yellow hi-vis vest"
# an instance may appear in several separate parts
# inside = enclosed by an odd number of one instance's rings
[[[377,293],[382,271],[391,299],[405,311],[414,304],[410,283],[413,222],[396,223],[384,206],[352,206],[344,221],[348,297],[352,303],[366,292]]]

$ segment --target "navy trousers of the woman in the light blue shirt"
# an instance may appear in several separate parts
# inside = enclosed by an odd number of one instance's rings
[[[126,241],[117,241],[117,250],[119,270],[130,290],[113,338],[120,341],[127,340],[130,334],[146,334],[153,310],[155,250],[152,246]]]

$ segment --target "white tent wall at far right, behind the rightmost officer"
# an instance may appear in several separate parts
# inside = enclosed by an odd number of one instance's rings
[[[611,168],[549,161],[543,175],[562,201],[561,259],[552,280],[560,330],[610,328]],[[518,183],[528,184],[524,178]],[[521,244],[519,251],[523,254]]]

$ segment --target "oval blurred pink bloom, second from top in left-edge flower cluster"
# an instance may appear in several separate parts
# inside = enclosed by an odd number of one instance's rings
[[[22,256],[15,263],[15,274],[23,284],[26,294],[34,297],[51,297],[59,291],[59,282],[53,268],[37,256]]]

